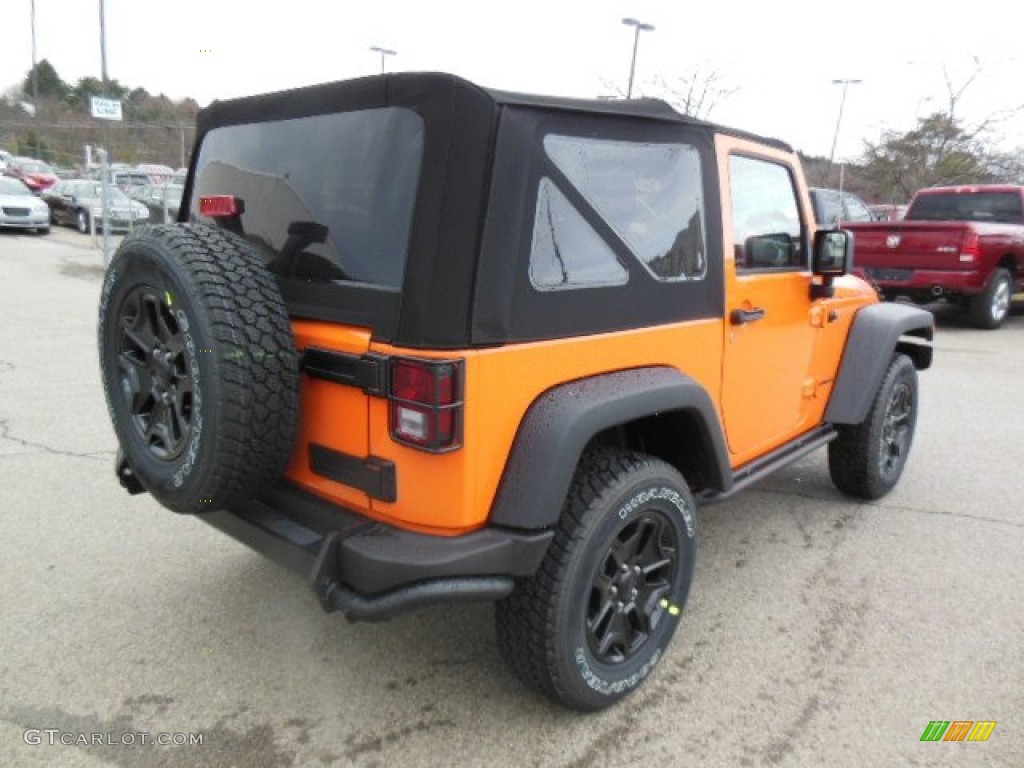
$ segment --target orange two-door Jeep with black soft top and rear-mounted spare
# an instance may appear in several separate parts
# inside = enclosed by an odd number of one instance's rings
[[[132,493],[380,621],[497,602],[557,701],[640,686],[696,502],[906,463],[932,317],[847,274],[795,153],[656,100],[397,74],[215,102],[125,238],[99,352]]]

